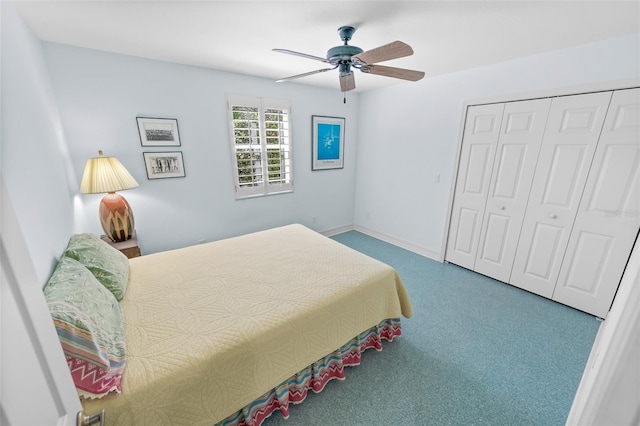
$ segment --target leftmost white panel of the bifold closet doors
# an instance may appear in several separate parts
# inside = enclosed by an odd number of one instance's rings
[[[445,259],[473,269],[504,104],[467,110]]]

